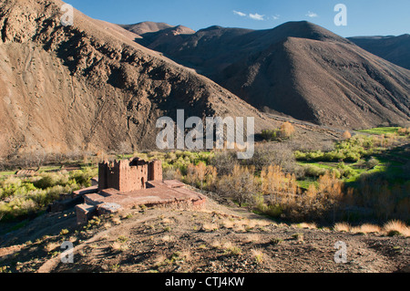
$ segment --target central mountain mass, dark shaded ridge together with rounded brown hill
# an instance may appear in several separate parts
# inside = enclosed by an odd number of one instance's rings
[[[258,109],[341,127],[410,120],[410,71],[309,22],[136,39]]]

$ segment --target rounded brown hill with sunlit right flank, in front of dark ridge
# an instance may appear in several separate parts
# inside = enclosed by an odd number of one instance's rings
[[[220,84],[255,107],[319,124],[410,120],[410,72],[349,44],[289,37],[226,68]]]

